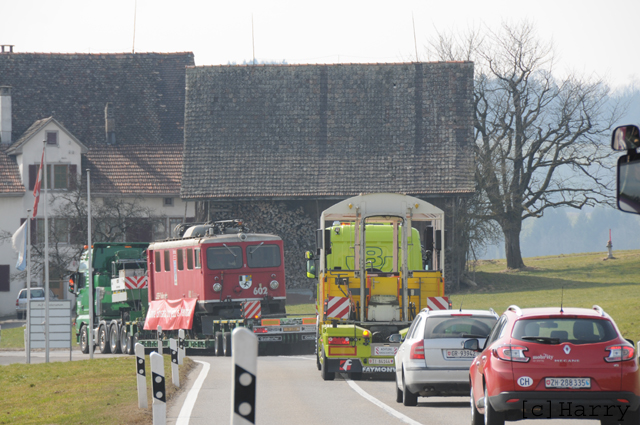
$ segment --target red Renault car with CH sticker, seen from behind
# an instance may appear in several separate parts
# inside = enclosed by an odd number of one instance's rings
[[[633,343],[599,306],[510,306],[469,369],[472,425],[521,419],[640,423],[640,372]],[[484,416],[484,418],[483,418]]]

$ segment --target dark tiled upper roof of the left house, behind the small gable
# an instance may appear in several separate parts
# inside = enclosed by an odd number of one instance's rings
[[[0,53],[11,86],[12,140],[53,116],[89,148],[105,142],[111,102],[118,144],[183,142],[185,67],[193,53]]]

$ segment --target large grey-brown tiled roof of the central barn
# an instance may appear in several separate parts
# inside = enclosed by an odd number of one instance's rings
[[[470,62],[187,68],[184,199],[474,191]]]

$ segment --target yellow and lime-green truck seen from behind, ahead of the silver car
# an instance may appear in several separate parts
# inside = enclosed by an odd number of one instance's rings
[[[395,372],[400,344],[389,336],[423,308],[448,308],[443,230],[442,210],[394,193],[355,196],[322,212],[317,251],[306,257],[307,276],[317,279],[324,380]]]

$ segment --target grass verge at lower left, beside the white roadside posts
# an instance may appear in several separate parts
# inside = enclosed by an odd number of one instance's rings
[[[169,400],[179,389],[171,380],[171,356],[164,362]],[[138,408],[135,356],[1,366],[0,424],[152,424],[150,365],[147,356],[148,409]],[[184,359],[181,383],[194,366]]]

